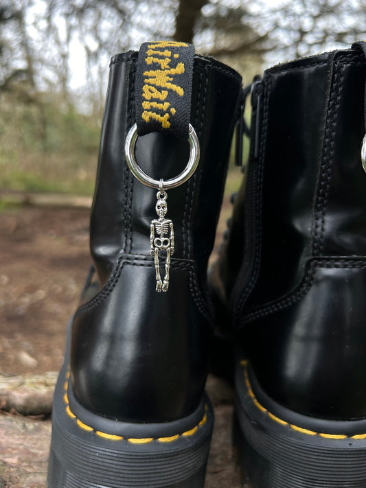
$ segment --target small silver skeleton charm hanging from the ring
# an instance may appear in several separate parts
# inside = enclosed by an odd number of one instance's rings
[[[162,181],[161,181],[162,183]],[[155,218],[150,224],[150,254],[154,256],[155,275],[157,279],[157,292],[166,292],[169,288],[170,257],[174,254],[174,229],[173,222],[166,219],[168,211],[166,205],[167,194],[162,184],[157,192],[157,205],[155,210],[159,218]],[[159,251],[165,252],[165,277],[161,281]]]

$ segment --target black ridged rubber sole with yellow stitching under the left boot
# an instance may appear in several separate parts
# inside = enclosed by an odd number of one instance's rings
[[[207,397],[196,414],[161,426],[121,423],[90,412],[83,417],[66,361],[54,394],[47,486],[203,488],[213,424]]]

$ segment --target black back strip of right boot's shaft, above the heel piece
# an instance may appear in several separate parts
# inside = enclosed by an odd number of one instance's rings
[[[323,236],[319,255],[366,254],[366,174],[360,164],[365,135],[366,63],[357,56],[350,62],[336,58],[334,73],[334,147],[325,202]],[[338,92],[337,92],[338,91]]]

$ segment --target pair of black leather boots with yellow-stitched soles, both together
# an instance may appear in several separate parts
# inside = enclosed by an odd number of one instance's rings
[[[247,91],[184,43],[112,58],[96,278],[69,326],[49,488],[203,488],[212,342],[235,369],[244,487],[366,487],[364,50],[253,82],[249,165],[208,281]]]

